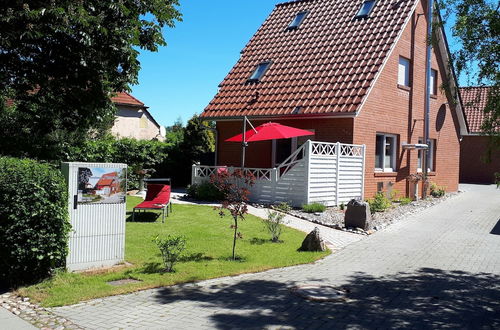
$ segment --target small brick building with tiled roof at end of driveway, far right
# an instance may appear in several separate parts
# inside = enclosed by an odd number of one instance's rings
[[[483,161],[488,149],[489,137],[481,132],[481,125],[489,91],[490,87],[460,88],[469,125],[469,134],[465,135],[460,142],[460,182],[493,183],[494,174],[500,173],[498,150],[492,153],[490,162]]]

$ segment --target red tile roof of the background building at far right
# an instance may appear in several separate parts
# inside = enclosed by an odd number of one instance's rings
[[[460,96],[471,133],[480,133],[491,87],[462,87]]]

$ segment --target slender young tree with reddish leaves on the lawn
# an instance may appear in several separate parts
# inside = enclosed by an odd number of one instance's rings
[[[220,216],[224,217],[226,215],[224,210],[227,210],[233,217],[234,224],[231,226],[234,229],[233,260],[236,260],[236,239],[242,237],[238,232],[238,221],[245,220],[245,214],[248,213],[247,203],[250,195],[248,187],[254,185],[255,177],[250,172],[236,169],[231,173],[223,171],[213,175],[210,181],[224,195],[224,201],[218,208]]]

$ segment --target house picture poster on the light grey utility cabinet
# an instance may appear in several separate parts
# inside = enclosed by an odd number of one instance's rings
[[[125,168],[78,168],[78,204],[125,203]]]

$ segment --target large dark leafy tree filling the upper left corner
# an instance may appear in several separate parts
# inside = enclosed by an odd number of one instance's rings
[[[0,153],[64,158],[113,123],[115,91],[137,83],[139,50],[165,45],[178,0],[0,3]],[[4,100],[5,101],[5,100]],[[4,103],[4,102],[2,102]]]

